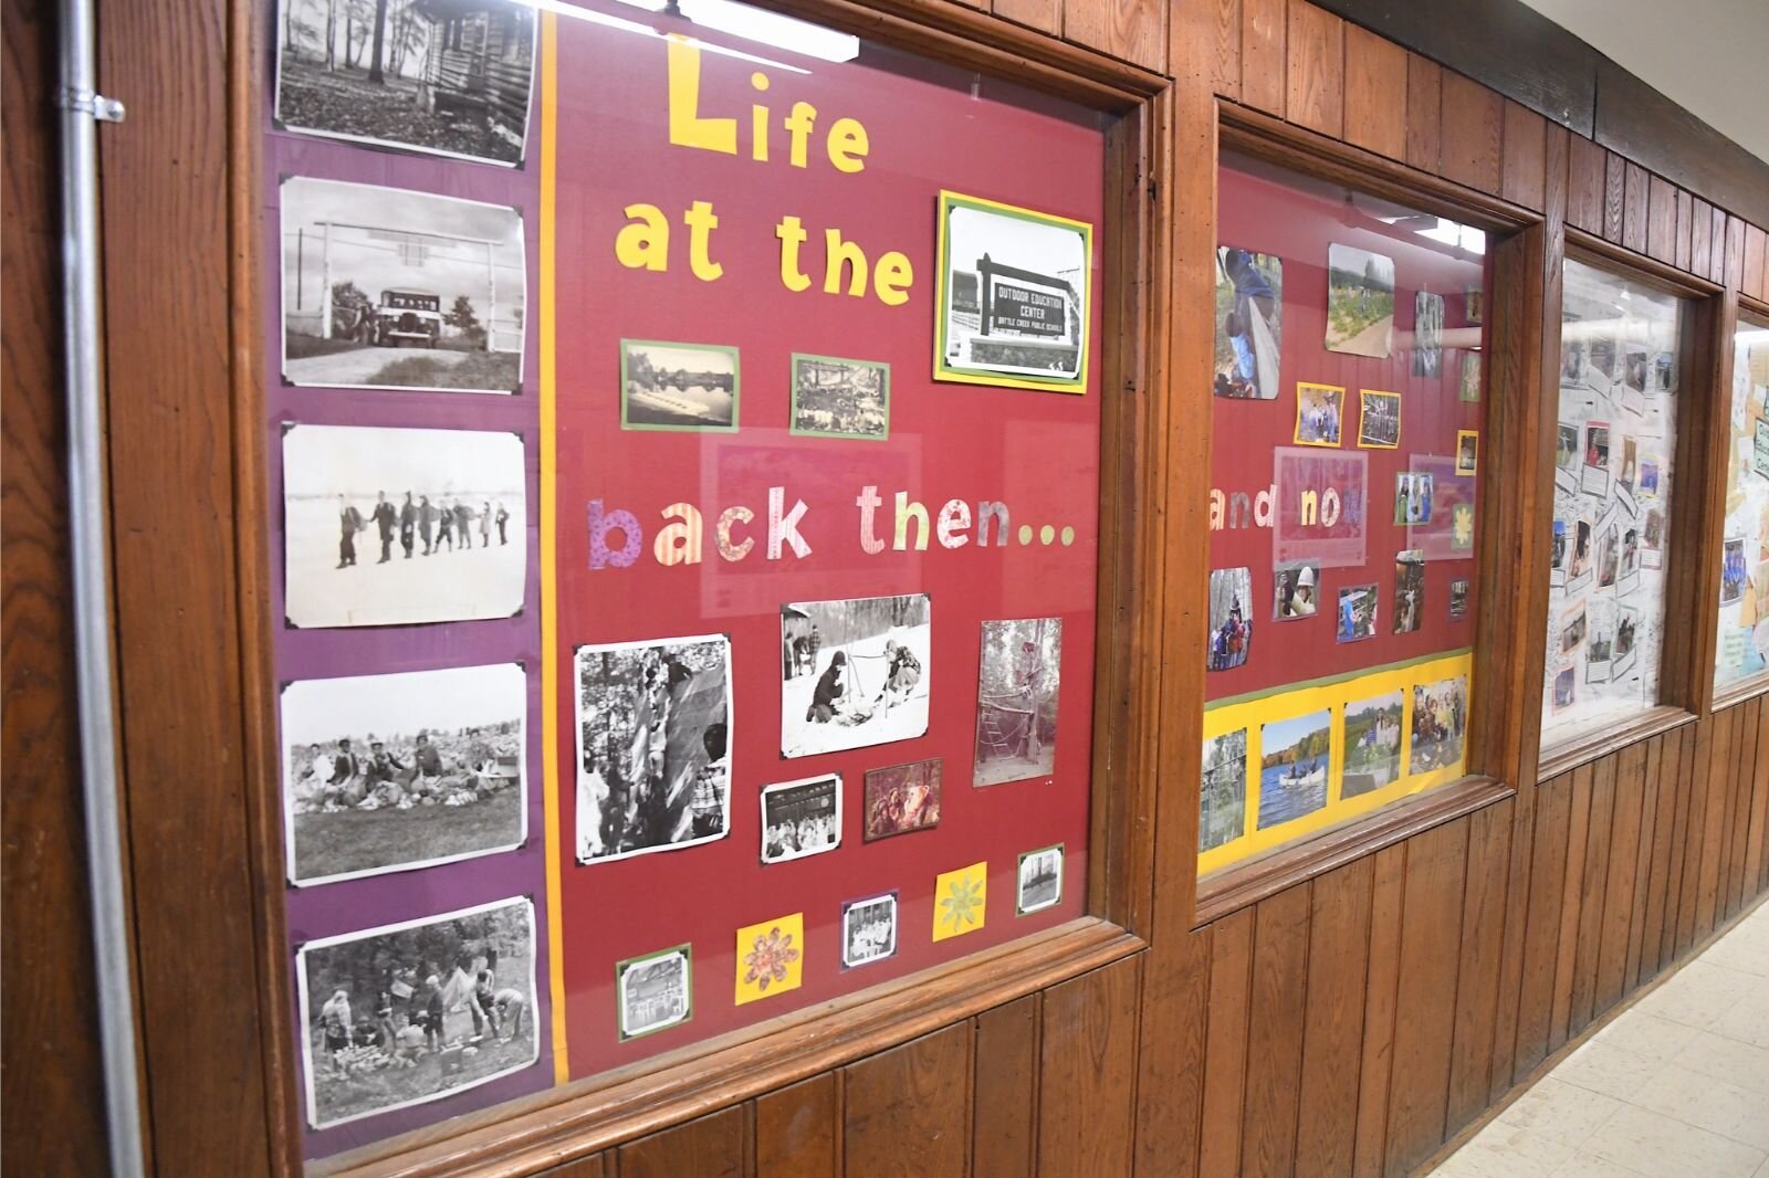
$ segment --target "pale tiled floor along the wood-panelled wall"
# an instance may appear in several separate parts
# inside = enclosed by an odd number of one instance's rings
[[[1769,1178],[1769,904],[1431,1173]]]

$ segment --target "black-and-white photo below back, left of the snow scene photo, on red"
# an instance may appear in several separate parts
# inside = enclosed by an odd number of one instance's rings
[[[580,646],[577,861],[731,833],[731,639]]]

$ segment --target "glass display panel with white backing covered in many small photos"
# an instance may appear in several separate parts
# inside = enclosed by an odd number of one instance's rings
[[[1543,750],[1659,702],[1684,301],[1567,258]]]

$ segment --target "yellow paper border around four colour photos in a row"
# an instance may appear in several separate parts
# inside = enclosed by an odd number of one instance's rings
[[[1320,685],[1298,685],[1290,690],[1277,690],[1256,699],[1231,699],[1212,704],[1205,709],[1205,741],[1247,729],[1247,808],[1242,817],[1242,835],[1229,838],[1221,847],[1212,847],[1198,854],[1198,874],[1237,863],[1251,854],[1270,851],[1272,847],[1293,842],[1327,826],[1343,822],[1348,817],[1367,814],[1380,807],[1422,792],[1435,785],[1452,782],[1467,773],[1468,750],[1463,736],[1463,755],[1454,764],[1440,766],[1428,773],[1406,773],[1413,755],[1413,688],[1440,679],[1468,677],[1468,699],[1474,699],[1474,653],[1459,651],[1442,658],[1428,658],[1415,663],[1378,667],[1350,679]],[[1401,693],[1401,776],[1357,798],[1341,798],[1344,782],[1344,709],[1366,699]],[[1281,720],[1295,720],[1314,711],[1332,711],[1332,752],[1327,773],[1327,805],[1314,814],[1306,814],[1290,822],[1281,822],[1268,830],[1258,830],[1260,821],[1260,761],[1265,759],[1261,746],[1261,727]]]

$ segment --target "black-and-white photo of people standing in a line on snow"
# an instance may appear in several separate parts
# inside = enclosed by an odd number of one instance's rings
[[[525,483],[518,433],[287,426],[290,624],[513,616],[529,573]]]

